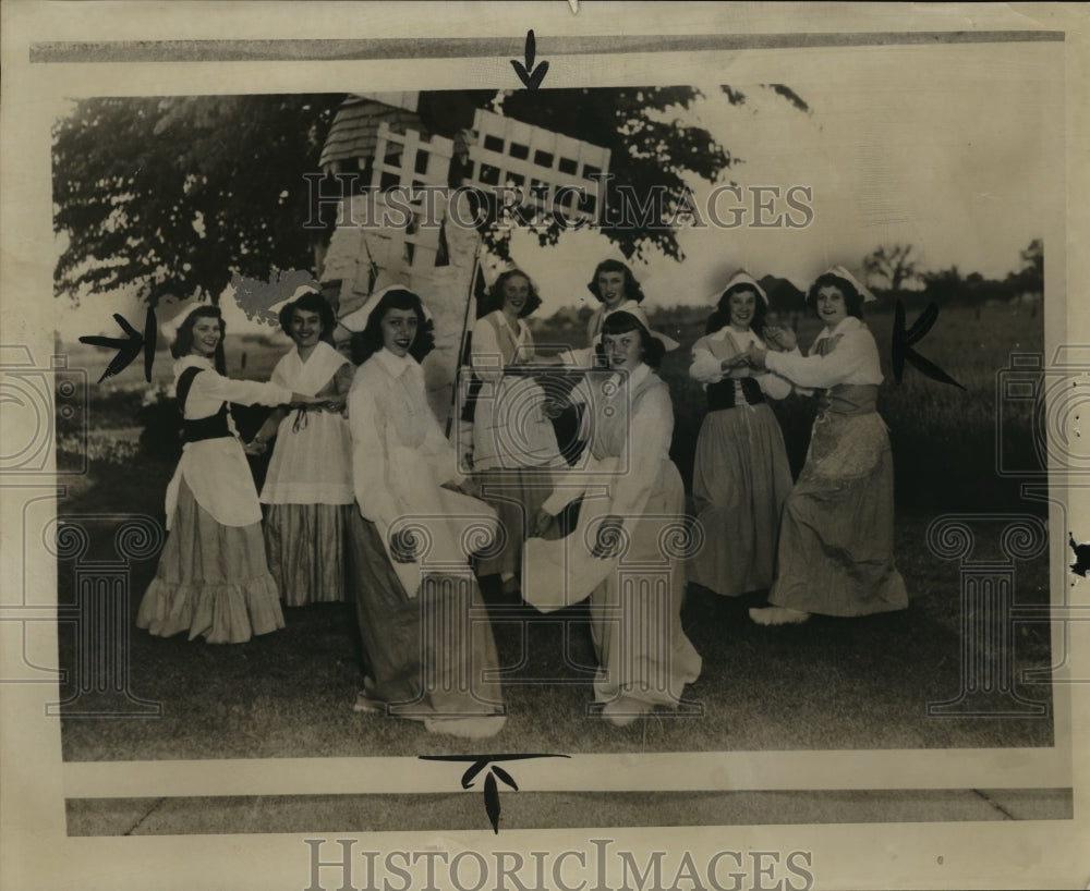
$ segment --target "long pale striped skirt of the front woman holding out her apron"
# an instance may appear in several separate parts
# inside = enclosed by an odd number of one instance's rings
[[[681,627],[685,564],[678,538],[685,489],[673,462],[661,464],[642,513],[616,571],[591,593],[598,659],[594,698],[676,708],[685,685],[700,676],[701,658]],[[669,528],[677,533],[668,535]]]

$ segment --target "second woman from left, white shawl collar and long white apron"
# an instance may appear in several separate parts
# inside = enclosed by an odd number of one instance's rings
[[[280,310],[295,349],[272,382],[328,401],[323,410],[274,412],[254,437],[258,448],[276,437],[261,501],[269,571],[289,607],[344,599],[344,522],[355,496],[341,408],[355,369],[328,343],[336,324],[314,291]]]

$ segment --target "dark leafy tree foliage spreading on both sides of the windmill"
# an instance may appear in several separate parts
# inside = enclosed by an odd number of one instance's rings
[[[789,88],[770,85],[801,110]],[[729,101],[747,97],[724,87]],[[472,121],[492,90],[422,94],[425,127],[449,135]],[[520,90],[502,113],[611,150],[616,185],[667,207],[685,176],[717,181],[734,162],[703,127],[682,120],[700,97],[691,87]],[[268,279],[308,269],[315,239],[302,227],[323,143],[342,94],[100,98],[76,103],[53,133],[55,230],[66,239],[57,293],[164,282],[215,301],[234,273]],[[680,258],[666,228],[606,227],[626,256],[649,246]],[[557,228],[543,233],[555,242]]]

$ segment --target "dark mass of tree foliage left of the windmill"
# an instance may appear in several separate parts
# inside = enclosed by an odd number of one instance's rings
[[[86,99],[53,132],[59,294],[170,282],[216,301],[234,272],[313,265],[305,171],[341,95]]]

